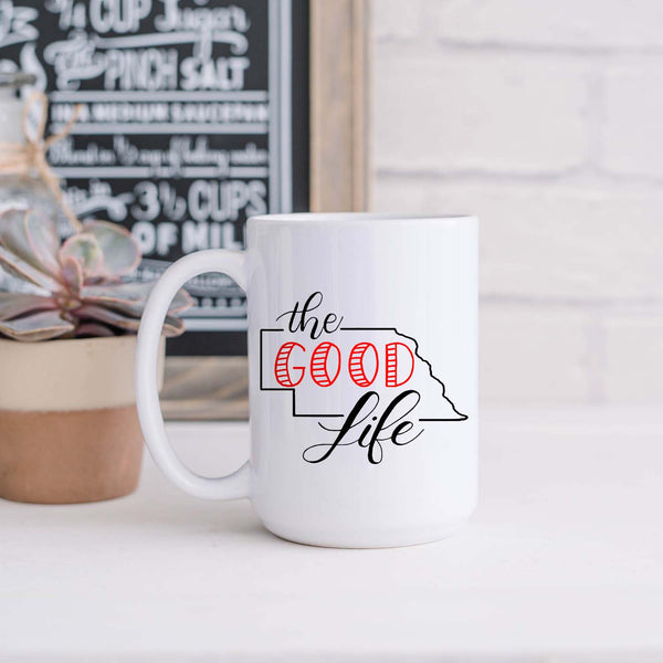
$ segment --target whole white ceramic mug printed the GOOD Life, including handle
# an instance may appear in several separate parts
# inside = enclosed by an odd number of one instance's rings
[[[161,471],[198,497],[249,497],[267,529],[348,548],[439,539],[477,491],[477,221],[274,214],[246,251],[171,265],[138,333],[136,394]],[[157,392],[170,298],[206,272],[249,303],[251,459],[206,478],[176,457]]]

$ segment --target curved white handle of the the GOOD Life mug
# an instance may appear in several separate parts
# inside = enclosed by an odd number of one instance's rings
[[[246,290],[246,256],[239,251],[210,249],[181,257],[172,263],[151,291],[136,349],[136,404],[147,446],[161,472],[185,493],[203,499],[249,497],[251,469],[246,461],[236,472],[219,478],[207,478],[182,465],[168,441],[159,406],[157,365],[159,339],[170,302],[193,276],[207,272],[228,274]]]

